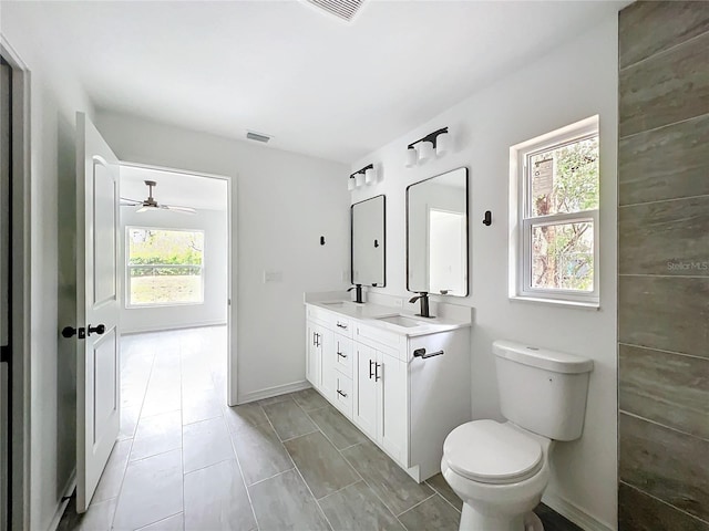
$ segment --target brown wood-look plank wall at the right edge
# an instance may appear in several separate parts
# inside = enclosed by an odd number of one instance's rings
[[[618,529],[709,531],[709,2],[618,28]]]

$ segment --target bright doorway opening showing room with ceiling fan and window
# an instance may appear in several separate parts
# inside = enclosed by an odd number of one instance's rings
[[[135,458],[151,426],[167,423],[176,444],[183,425],[236,396],[230,181],[127,163],[120,173],[121,438]]]

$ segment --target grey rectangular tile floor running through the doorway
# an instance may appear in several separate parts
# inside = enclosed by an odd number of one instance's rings
[[[225,352],[224,327],[122,340],[121,437],[61,531],[458,529],[441,475],[414,482],[317,392],[227,407]]]

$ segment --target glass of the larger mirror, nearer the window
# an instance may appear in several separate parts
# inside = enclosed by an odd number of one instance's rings
[[[407,289],[466,296],[467,168],[407,188]]]

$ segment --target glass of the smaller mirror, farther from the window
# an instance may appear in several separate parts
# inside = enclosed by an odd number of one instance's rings
[[[384,196],[376,196],[351,206],[352,284],[383,287],[386,274]]]

